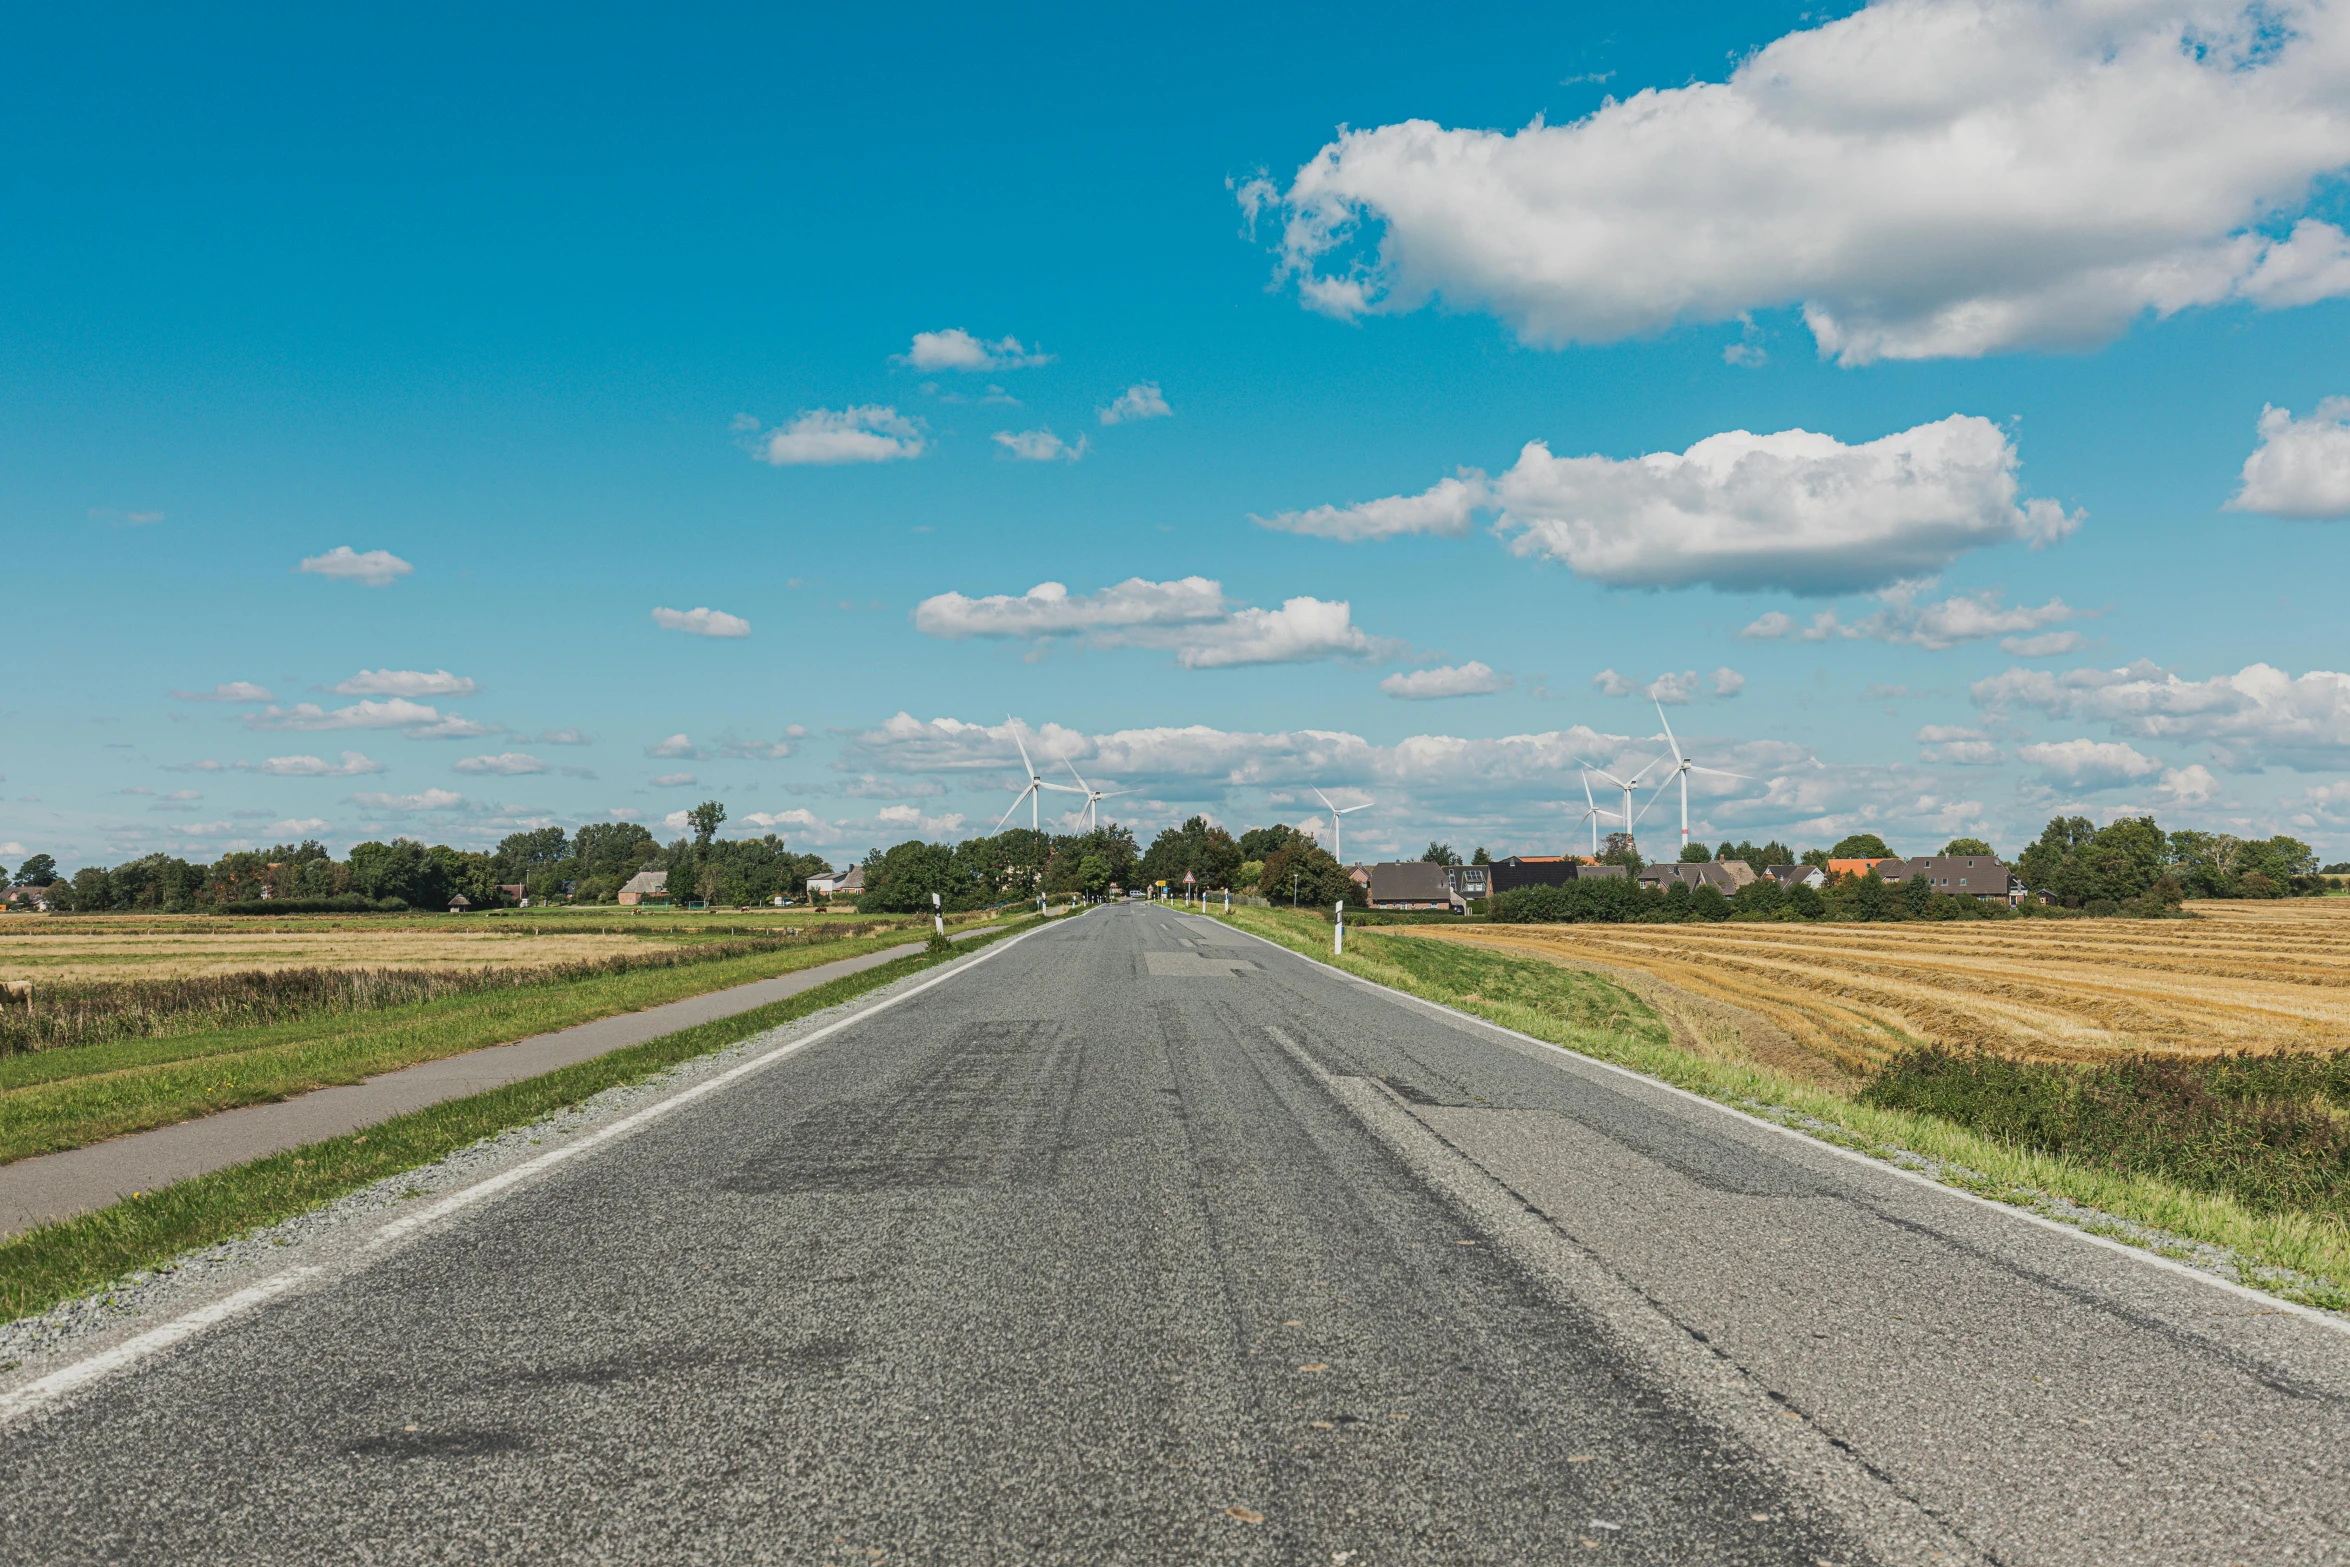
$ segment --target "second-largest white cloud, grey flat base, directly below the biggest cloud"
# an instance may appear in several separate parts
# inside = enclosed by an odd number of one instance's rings
[[[1854,592],[1934,576],[1967,550],[2052,545],[2080,524],[2054,500],[2019,503],[2014,444],[1962,413],[1859,446],[1730,430],[1614,460],[1528,442],[1495,491],[1516,554],[1612,587]]]

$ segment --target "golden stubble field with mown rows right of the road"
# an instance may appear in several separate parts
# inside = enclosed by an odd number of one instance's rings
[[[1866,1071],[1908,1041],[2019,1060],[2350,1045],[2350,897],[2200,902],[2183,921],[1415,926],[1647,975]]]

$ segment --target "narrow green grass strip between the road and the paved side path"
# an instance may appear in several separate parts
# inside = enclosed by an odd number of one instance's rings
[[[524,1083],[494,1088],[470,1099],[449,1099],[395,1116],[364,1132],[329,1137],[301,1149],[214,1170],[162,1191],[127,1198],[78,1219],[45,1224],[0,1243],[0,1323],[47,1311],[56,1302],[89,1294],[101,1285],[153,1269],[181,1252],[230,1240],[263,1224],[331,1203],[350,1191],[428,1165],[512,1125],[592,1099],[606,1088],[644,1081],[667,1067],[724,1050],[872,989],[935,968],[975,947],[1032,928],[1006,923],[1001,933],[971,937],[947,954],[909,954],[855,975],[844,975],[787,1001],[738,1017],[721,1017],[642,1045],[599,1055]]]

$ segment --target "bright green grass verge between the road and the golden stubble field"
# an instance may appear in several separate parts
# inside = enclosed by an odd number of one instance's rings
[[[1692,1055],[1671,1041],[1647,1003],[1600,975],[1546,959],[1363,930],[1349,930],[1347,956],[1335,959],[1330,926],[1321,916],[1234,909],[1227,919],[1318,963],[1631,1067],[1821,1142],[1925,1170],[1946,1186],[2216,1266],[2242,1285],[2291,1302],[2350,1309],[2350,1226],[2331,1215],[2261,1212],[2221,1191],[2040,1154],[1934,1114],[1845,1097],[1753,1062]],[[1603,991],[1614,991],[1614,998]],[[2084,1217],[2068,1205],[2094,1212]]]

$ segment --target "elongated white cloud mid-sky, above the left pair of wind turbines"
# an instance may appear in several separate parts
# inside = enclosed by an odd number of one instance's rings
[[[1222,583],[1128,578],[1083,597],[1062,583],[1025,594],[968,599],[942,592],[914,606],[914,630],[928,637],[1076,637],[1088,646],[1163,648],[1187,670],[1372,658],[1391,644],[1354,625],[1347,601],[1297,597],[1281,608],[1229,608]]]

